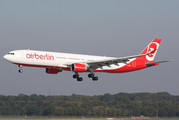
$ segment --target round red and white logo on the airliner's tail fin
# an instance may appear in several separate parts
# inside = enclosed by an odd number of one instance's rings
[[[147,48],[147,53],[150,53],[150,52],[152,52],[152,51],[155,50],[155,49],[157,50],[158,47],[159,47],[159,44],[158,44],[157,42],[152,42],[152,43],[148,46],[148,48]],[[147,59],[148,61],[153,61],[155,55],[156,55],[156,52],[155,52],[154,54],[147,55],[147,56],[146,56],[146,59]]]

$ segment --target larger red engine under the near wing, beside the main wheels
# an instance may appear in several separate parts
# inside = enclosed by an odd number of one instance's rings
[[[74,63],[71,65],[71,71],[73,72],[84,72],[87,67],[84,64]]]

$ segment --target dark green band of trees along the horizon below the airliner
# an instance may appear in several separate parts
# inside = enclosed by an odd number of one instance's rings
[[[167,92],[70,96],[0,95],[0,115],[179,117],[179,96]]]

